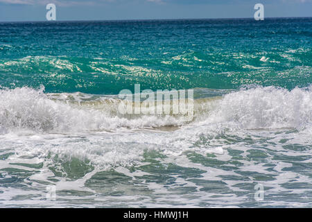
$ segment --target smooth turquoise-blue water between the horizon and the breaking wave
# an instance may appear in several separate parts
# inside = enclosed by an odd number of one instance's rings
[[[0,85],[46,92],[312,82],[312,19],[0,24]]]

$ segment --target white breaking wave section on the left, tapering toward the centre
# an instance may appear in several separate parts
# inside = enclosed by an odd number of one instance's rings
[[[179,117],[119,117],[118,99],[64,102],[28,87],[0,91],[1,132],[33,130],[37,133],[74,133],[114,130],[116,128],[151,128],[176,126]]]

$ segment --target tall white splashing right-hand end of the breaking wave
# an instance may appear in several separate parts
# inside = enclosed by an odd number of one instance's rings
[[[312,123],[312,87],[232,92],[219,101],[205,123],[232,123],[244,129],[305,128]]]

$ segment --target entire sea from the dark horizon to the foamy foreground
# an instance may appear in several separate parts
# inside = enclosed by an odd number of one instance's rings
[[[311,207],[311,25],[0,23],[0,206]],[[135,84],[194,119],[119,114]]]

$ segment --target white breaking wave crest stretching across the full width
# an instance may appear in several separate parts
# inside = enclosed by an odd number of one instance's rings
[[[159,128],[189,124],[180,114],[120,114],[116,96],[44,94],[44,88],[0,91],[0,133],[79,133],[117,128]],[[291,91],[253,87],[194,101],[192,125],[223,128],[303,130],[312,123],[312,87]]]

